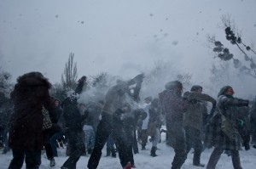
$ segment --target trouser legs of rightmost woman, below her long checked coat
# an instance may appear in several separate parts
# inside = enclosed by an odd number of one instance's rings
[[[241,161],[239,156],[239,151],[236,149],[231,149],[231,158],[234,169],[242,169],[241,168]],[[220,155],[224,152],[224,149],[222,148],[214,148],[212,151],[212,155],[210,156],[210,159],[207,164],[207,169],[215,169],[215,166],[218,163],[218,160],[220,158]]]

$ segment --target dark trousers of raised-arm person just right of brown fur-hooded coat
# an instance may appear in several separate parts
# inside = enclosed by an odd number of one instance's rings
[[[84,131],[67,131],[65,136],[68,139],[70,155],[63,166],[68,169],[75,169],[80,156],[83,155],[85,151]]]

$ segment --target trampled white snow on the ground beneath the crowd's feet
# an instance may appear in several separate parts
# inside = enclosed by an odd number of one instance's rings
[[[135,164],[137,166],[137,169],[166,169],[171,168],[172,159],[174,156],[174,151],[172,147],[169,147],[165,143],[165,136],[164,133],[162,133],[162,140],[163,142],[158,145],[158,150],[156,151],[156,154],[158,156],[151,157],[150,156],[150,148],[151,143],[147,144],[146,150],[140,150],[139,154],[134,155]],[[141,149],[141,145],[139,144],[139,149]],[[193,160],[193,150],[189,152],[188,158],[183,164],[183,169],[200,169],[202,167],[193,166],[192,160]],[[9,166],[9,162],[12,159],[12,153],[8,152],[7,155],[2,155],[1,150],[0,155],[0,168],[1,169],[7,169]],[[207,164],[207,161],[212,153],[212,149],[206,149],[201,154],[201,163]],[[59,157],[55,157],[56,165],[54,167],[49,167],[49,161],[46,158],[45,153],[42,155],[42,164],[40,166],[40,169],[55,169],[60,168],[64,161],[67,160],[67,157],[65,155],[65,149],[58,149]],[[106,157],[106,146],[102,150],[102,159],[100,161],[100,164],[98,166],[99,169],[121,169],[122,167],[119,164],[119,158],[112,158],[112,157]],[[240,151],[241,156],[241,166],[243,169],[254,169],[256,168],[256,149],[253,149],[251,146],[251,149],[246,151],[242,149]],[[89,156],[82,156],[79,159],[79,162],[77,164],[77,169],[86,169],[87,162],[89,160]],[[25,169],[25,164],[22,167],[22,169]],[[206,168],[206,166],[204,167]],[[228,155],[223,154],[218,161],[217,169],[231,169],[233,168],[231,157]]]

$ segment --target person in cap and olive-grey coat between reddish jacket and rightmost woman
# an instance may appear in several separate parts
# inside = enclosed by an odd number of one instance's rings
[[[207,107],[205,101],[212,103],[212,110],[215,111],[216,100],[211,96],[202,93],[202,87],[195,85],[191,87],[190,92],[185,92],[183,98],[188,100],[188,110],[183,116],[183,127],[186,132],[187,154],[193,147],[195,149],[193,157],[193,166],[204,167],[201,164],[202,146],[202,127],[203,115],[207,114]]]

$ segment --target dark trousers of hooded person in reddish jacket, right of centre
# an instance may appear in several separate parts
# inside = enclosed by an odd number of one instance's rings
[[[187,159],[187,148],[183,123],[178,121],[166,121],[168,136],[171,138],[175,155],[172,161],[172,169],[180,169]]]

